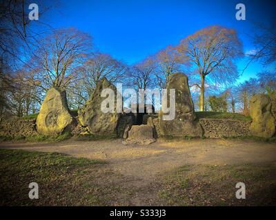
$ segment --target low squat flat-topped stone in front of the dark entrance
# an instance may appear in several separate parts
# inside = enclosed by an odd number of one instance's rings
[[[128,139],[124,141],[124,144],[151,144],[155,142],[153,137],[152,126],[146,124],[132,125],[130,131],[128,131]]]

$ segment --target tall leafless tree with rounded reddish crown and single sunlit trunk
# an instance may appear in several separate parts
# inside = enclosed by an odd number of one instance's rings
[[[233,29],[218,25],[195,32],[181,40],[178,51],[190,57],[200,76],[200,111],[204,111],[205,81],[232,83],[238,76],[235,58],[242,56],[242,43]]]

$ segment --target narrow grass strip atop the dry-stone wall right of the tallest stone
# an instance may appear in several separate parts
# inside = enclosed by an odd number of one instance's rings
[[[215,112],[215,111],[196,111],[197,118],[217,118],[217,119],[230,119],[230,120],[241,120],[250,122],[252,119],[250,116],[245,116],[239,113],[230,112]]]

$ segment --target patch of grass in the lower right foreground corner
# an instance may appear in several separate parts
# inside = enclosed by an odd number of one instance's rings
[[[276,204],[275,165],[190,165],[167,175],[158,197],[168,206],[266,206]],[[246,199],[235,185],[246,184]]]

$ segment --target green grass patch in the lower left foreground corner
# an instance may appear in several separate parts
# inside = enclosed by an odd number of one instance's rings
[[[95,173],[102,164],[59,153],[0,150],[0,206],[103,205],[94,177],[86,179],[86,172]],[[87,181],[88,189],[83,184]],[[31,182],[39,184],[39,199],[28,198]]]

